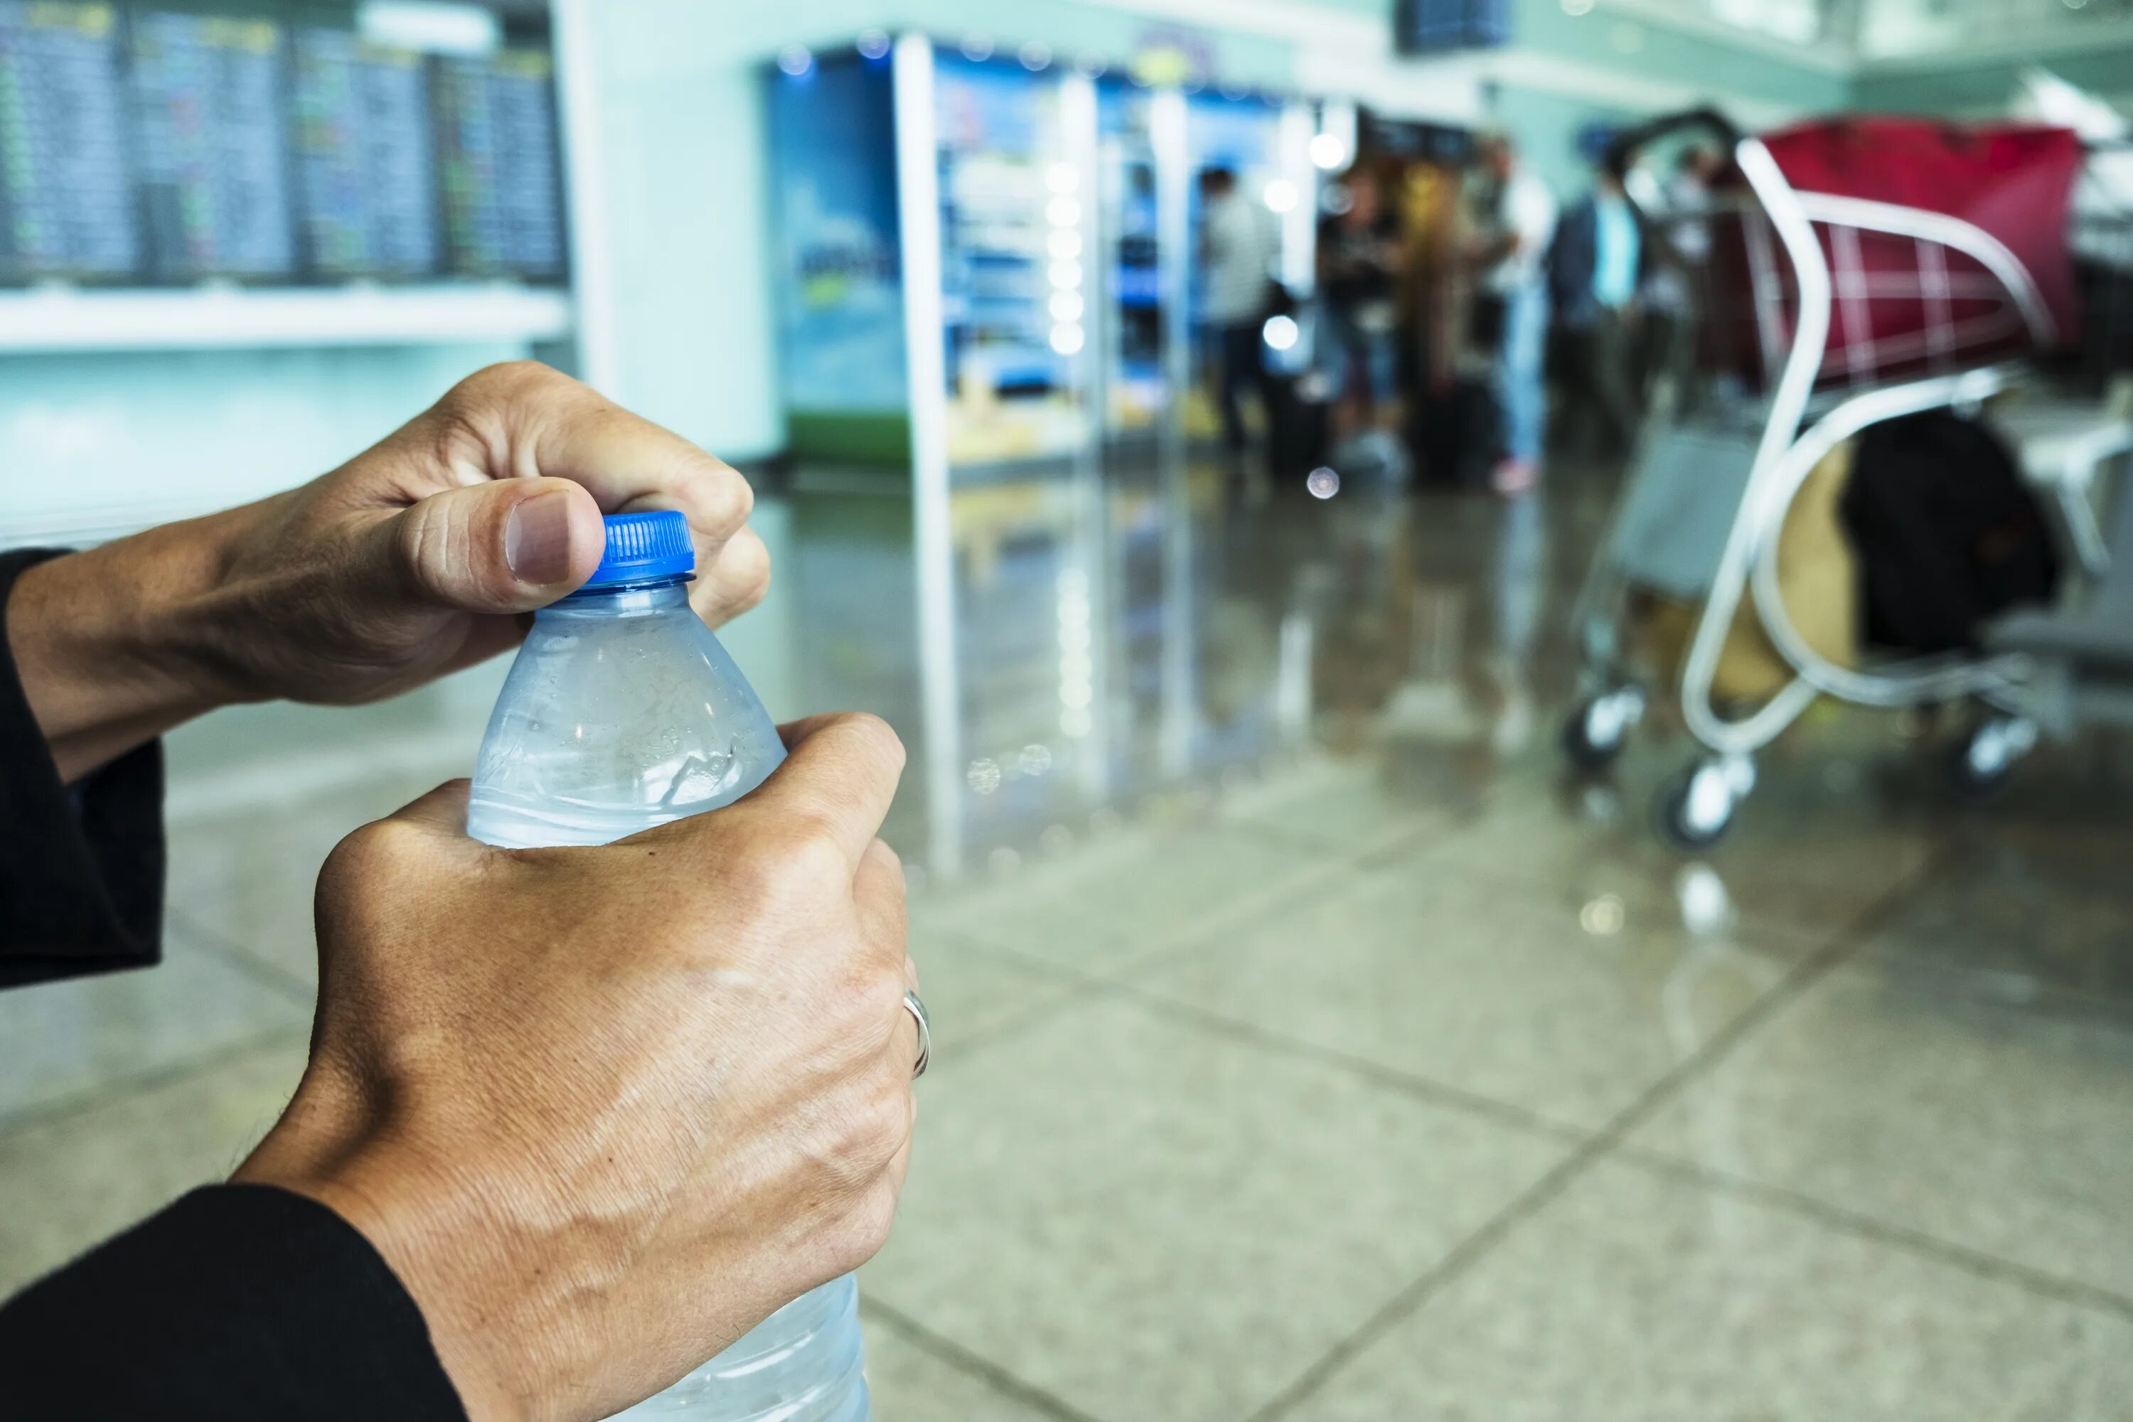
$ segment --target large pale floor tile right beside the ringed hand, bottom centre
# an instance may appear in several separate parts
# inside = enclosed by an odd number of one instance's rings
[[[921,1089],[862,1290],[1098,1418],[1231,1420],[1566,1145],[1103,1000]]]

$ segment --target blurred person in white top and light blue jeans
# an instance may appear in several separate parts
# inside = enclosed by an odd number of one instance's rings
[[[1506,134],[1482,136],[1478,158],[1485,183],[1468,260],[1480,273],[1476,339],[1491,354],[1495,403],[1504,422],[1504,458],[1497,460],[1491,484],[1512,499],[1540,484],[1549,426],[1542,362],[1549,339],[1544,262],[1555,237],[1555,194],[1519,162]]]

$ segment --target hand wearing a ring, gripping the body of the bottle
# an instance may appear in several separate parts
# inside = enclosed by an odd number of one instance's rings
[[[311,1064],[237,1179],[339,1211],[476,1422],[606,1418],[887,1239],[917,1032],[870,716],[602,849],[465,836],[465,782],[318,885]]]

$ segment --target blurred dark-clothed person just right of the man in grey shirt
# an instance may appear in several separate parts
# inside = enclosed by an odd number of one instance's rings
[[[1350,168],[1318,222],[1318,292],[1333,375],[1333,443],[1399,429],[1399,220],[1378,177]]]

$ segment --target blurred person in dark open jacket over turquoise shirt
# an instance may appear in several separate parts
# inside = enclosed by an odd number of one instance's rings
[[[1602,164],[1593,188],[1563,215],[1549,254],[1549,288],[1570,345],[1572,411],[1593,458],[1621,458],[1636,437],[1636,320],[1645,230],[1623,168]]]

